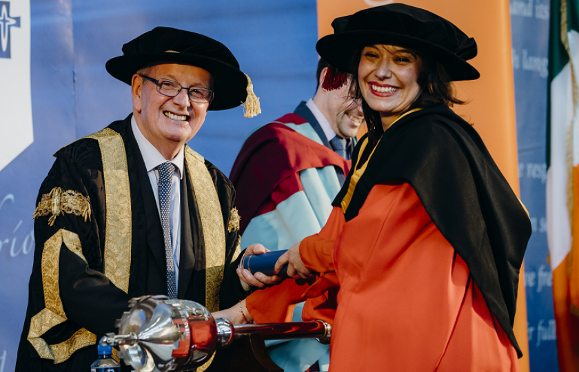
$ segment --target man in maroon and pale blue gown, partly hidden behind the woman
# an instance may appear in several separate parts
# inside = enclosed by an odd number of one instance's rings
[[[327,63],[320,60],[313,99],[256,130],[237,156],[231,180],[238,195],[241,246],[250,245],[247,252],[261,253],[263,246],[272,251],[289,249],[318,233],[349,172],[364,116],[359,103],[349,97],[348,85],[337,90],[323,87],[327,71]],[[243,280],[263,287],[262,273],[254,278],[249,271],[239,270]],[[267,293],[256,291],[247,298],[252,314],[271,313],[275,307],[285,316],[283,301],[272,304]],[[293,320],[301,321],[301,306],[294,309]],[[329,363],[329,348],[315,340],[276,342],[268,350],[287,372],[303,372],[312,364],[316,368],[316,362],[324,370]]]

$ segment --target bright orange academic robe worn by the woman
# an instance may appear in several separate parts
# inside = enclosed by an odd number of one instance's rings
[[[329,288],[306,302],[303,318],[333,322],[330,372],[518,371],[465,261],[409,184],[375,185],[347,223],[334,207],[300,253],[321,273],[316,284],[285,280],[253,293],[247,309],[257,322],[283,321],[281,307],[305,289]]]

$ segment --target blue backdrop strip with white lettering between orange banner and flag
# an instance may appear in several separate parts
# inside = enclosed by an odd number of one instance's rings
[[[549,0],[510,6],[520,195],[533,226],[525,254],[529,360],[531,372],[551,372],[558,364],[545,220]]]

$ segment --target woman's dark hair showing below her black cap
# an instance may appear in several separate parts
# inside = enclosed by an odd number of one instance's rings
[[[362,101],[362,110],[368,127],[369,146],[367,146],[367,149],[372,149],[382,134],[384,134],[384,129],[382,127],[380,113],[369,107],[362,96],[360,85],[358,85],[358,65],[360,64],[360,56],[364,48],[365,45],[356,49],[356,52],[354,52],[350,58],[350,71],[354,73],[354,77],[350,83],[349,92],[353,99],[360,99]],[[443,65],[416,50],[405,49],[416,54],[422,60],[422,70],[420,74],[418,74],[417,79],[421,91],[416,100],[410,105],[409,110],[416,107],[424,108],[440,104],[452,107],[454,104],[463,105],[466,103],[456,98],[454,84],[450,80]]]

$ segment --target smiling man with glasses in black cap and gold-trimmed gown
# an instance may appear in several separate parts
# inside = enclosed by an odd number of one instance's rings
[[[88,371],[132,297],[210,311],[245,297],[234,188],[185,143],[207,110],[256,101],[247,76],[219,41],[173,28],[106,68],[131,85],[132,114],[60,149],[40,187],[17,371]]]

